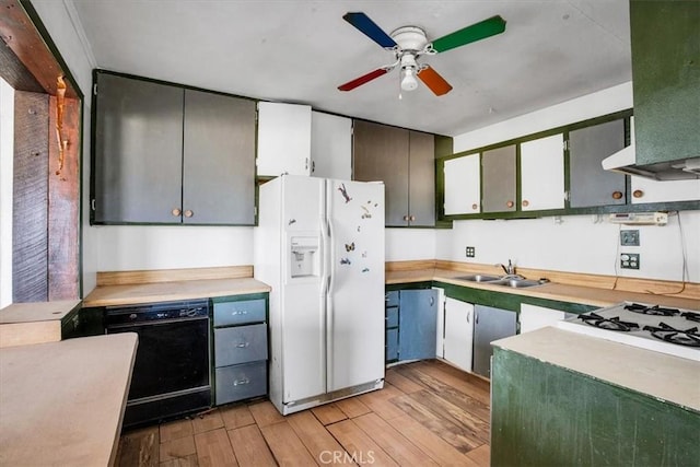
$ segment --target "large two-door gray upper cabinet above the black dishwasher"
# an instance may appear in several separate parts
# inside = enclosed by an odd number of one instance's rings
[[[95,80],[94,223],[255,223],[254,101]]]

